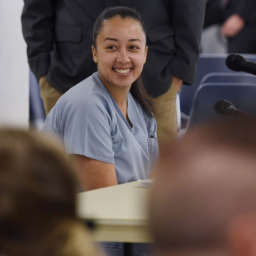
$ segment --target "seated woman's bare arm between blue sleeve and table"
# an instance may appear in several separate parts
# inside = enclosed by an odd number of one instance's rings
[[[70,155],[84,191],[118,185],[115,165],[82,155]]]

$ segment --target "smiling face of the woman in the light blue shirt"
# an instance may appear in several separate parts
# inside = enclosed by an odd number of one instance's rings
[[[92,46],[93,60],[98,63],[102,82],[110,91],[129,91],[146,61],[146,36],[138,21],[113,17],[103,23]]]

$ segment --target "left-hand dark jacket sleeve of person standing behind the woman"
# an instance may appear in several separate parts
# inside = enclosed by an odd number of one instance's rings
[[[29,67],[39,81],[50,66],[54,42],[53,0],[24,0],[21,14],[23,37],[27,43]]]

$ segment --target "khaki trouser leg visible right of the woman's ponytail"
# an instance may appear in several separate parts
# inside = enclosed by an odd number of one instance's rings
[[[177,93],[177,89],[171,86],[166,93],[153,99],[160,115],[160,117],[156,117],[160,154],[165,143],[177,138]]]

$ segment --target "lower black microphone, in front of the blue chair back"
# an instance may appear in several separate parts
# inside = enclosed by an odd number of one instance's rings
[[[249,116],[248,113],[236,108],[228,100],[218,100],[215,103],[214,110],[223,116]]]

